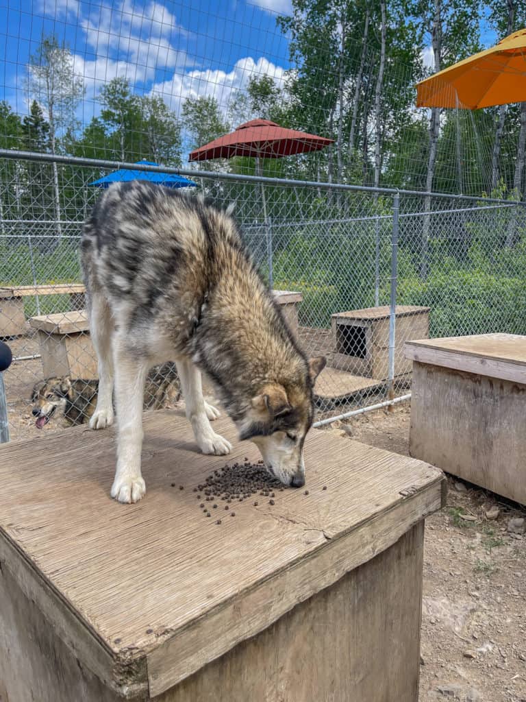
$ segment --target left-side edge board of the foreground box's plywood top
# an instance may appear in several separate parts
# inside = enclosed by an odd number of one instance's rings
[[[39,607],[55,634],[83,666],[123,699],[146,696],[144,654],[138,658],[136,651],[112,651],[0,528],[0,571],[2,568],[11,571],[24,595]]]

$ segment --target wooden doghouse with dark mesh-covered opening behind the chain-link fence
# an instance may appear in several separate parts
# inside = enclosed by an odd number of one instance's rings
[[[331,315],[332,366],[367,378],[389,376],[389,306]],[[411,371],[404,342],[429,336],[429,307],[396,307],[395,376]]]

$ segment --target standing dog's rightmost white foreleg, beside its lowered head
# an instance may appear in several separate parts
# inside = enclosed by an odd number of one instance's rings
[[[215,453],[216,456],[230,453],[232,449],[230,442],[216,434],[210,426],[210,418],[206,409],[207,405],[203,398],[200,371],[187,359],[177,361],[177,371],[181,380],[187,419],[194,430],[194,436],[199,448],[203,453]],[[217,409],[211,405],[208,405],[208,408],[213,409],[217,413]]]

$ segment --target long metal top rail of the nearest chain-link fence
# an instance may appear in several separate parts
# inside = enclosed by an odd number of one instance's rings
[[[86,159],[78,156],[62,156],[60,154],[39,154],[34,151],[19,151],[0,149],[0,158],[20,159],[22,161],[39,161],[43,163],[67,164],[69,166],[90,166],[91,168],[128,168],[134,171],[151,173],[175,173],[176,176],[189,178],[213,178],[213,180],[232,180],[242,183],[268,183],[269,185],[295,185],[297,187],[318,187],[321,190],[342,190],[348,192],[377,192],[379,194],[414,195],[414,197],[441,197],[449,200],[464,200],[480,202],[499,202],[507,205],[526,207],[526,201],[500,200],[494,197],[476,197],[474,195],[457,195],[447,192],[424,192],[422,190],[402,190],[393,187],[372,187],[370,185],[346,185],[344,183],[324,183],[316,180],[292,180],[291,178],[268,178],[267,176],[245,176],[241,173],[224,173],[222,171],[192,171],[189,168],[172,168],[171,166],[147,166],[133,164],[129,161],[107,161],[106,159]]]

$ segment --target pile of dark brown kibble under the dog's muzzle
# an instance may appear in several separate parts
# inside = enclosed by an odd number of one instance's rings
[[[204,483],[194,487],[194,492],[205,517],[212,517],[213,510],[222,510],[216,512],[218,517],[224,512],[235,517],[235,503],[257,496],[269,498],[269,504],[274,505],[276,492],[283,492],[284,489],[283,484],[264,468],[263,461],[250,463],[245,458],[244,463],[232,463],[215,470]],[[259,500],[256,499],[253,504],[257,507]],[[221,519],[217,519],[216,524],[221,524]]]

